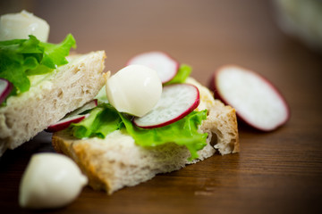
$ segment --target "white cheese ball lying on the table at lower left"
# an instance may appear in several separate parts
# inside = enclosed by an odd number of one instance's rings
[[[70,158],[58,153],[38,153],[31,157],[24,172],[19,194],[23,208],[63,207],[80,194],[88,178]]]

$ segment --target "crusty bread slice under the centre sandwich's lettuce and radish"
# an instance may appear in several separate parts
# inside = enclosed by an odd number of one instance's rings
[[[138,185],[158,173],[202,161],[212,156],[216,149],[221,154],[239,152],[234,109],[214,100],[208,89],[194,79],[187,82],[199,87],[199,108],[208,109],[208,119],[199,127],[200,132],[208,133],[207,145],[199,151],[198,160],[188,161],[191,155],[188,149],[174,143],[141,147],[124,130],[114,131],[105,139],[77,139],[67,130],[56,132],[53,135],[55,150],[70,156],[80,166],[89,177],[90,186],[109,194],[124,186]]]

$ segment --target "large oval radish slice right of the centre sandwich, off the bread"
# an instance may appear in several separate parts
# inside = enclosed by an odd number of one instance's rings
[[[258,73],[226,66],[216,71],[210,85],[215,96],[233,106],[239,118],[253,128],[271,131],[290,117],[283,95]]]

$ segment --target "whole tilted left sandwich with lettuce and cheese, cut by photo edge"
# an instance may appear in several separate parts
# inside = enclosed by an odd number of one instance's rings
[[[71,34],[47,43],[49,26],[30,12],[0,19],[0,156],[91,101],[104,85],[106,53],[70,54]]]

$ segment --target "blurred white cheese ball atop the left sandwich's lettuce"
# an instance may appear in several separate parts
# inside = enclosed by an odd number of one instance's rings
[[[9,13],[0,17],[0,41],[17,38],[37,37],[42,42],[47,42],[49,25],[30,12]]]

